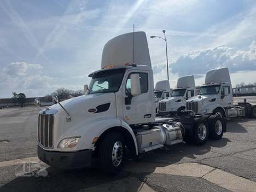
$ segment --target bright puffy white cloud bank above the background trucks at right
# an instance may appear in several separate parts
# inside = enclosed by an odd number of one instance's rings
[[[221,45],[215,48],[192,51],[180,56],[170,65],[172,73],[179,76],[187,74],[205,74],[218,67],[228,67],[230,72],[256,71],[256,42],[249,45],[249,50],[235,50]]]

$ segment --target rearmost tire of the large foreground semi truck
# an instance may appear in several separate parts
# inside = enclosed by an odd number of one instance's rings
[[[224,133],[224,122],[219,115],[211,115],[208,120],[210,127],[210,137],[214,140],[219,140],[222,138]]]

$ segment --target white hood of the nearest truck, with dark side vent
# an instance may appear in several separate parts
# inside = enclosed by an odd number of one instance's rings
[[[63,101],[61,104],[70,114],[70,121],[67,121],[67,114],[59,104],[44,109],[46,114],[54,113],[55,149],[63,138],[82,136],[77,130],[83,127],[85,129],[86,124],[117,117],[113,92],[83,95]]]

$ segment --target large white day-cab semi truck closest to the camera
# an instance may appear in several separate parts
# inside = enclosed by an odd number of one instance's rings
[[[85,95],[62,102],[54,97],[56,104],[38,115],[38,157],[52,167],[78,168],[96,162],[116,174],[128,155],[136,158],[183,141],[202,145],[208,137],[220,139],[226,131],[225,119],[217,115],[184,112],[177,119],[155,117],[153,71],[144,32],[109,40],[101,69],[89,77]]]

